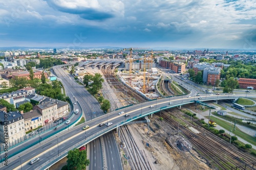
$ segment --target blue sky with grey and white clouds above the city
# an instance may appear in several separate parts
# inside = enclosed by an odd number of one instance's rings
[[[0,1],[0,47],[256,49],[255,0]]]

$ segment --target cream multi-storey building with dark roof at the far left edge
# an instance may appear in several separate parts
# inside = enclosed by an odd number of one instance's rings
[[[15,144],[25,135],[23,115],[16,111],[6,113],[0,110],[0,139]]]

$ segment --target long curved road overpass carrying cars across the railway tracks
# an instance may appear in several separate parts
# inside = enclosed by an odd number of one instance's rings
[[[164,98],[164,99],[156,99],[151,100],[148,102],[144,102],[137,105],[132,105],[130,107],[125,107],[119,110],[116,110],[114,112],[102,115],[100,117],[97,117],[97,119],[93,119],[91,121],[86,122],[86,125],[89,125],[90,128],[86,131],[82,130],[83,125],[76,126],[72,128],[69,132],[68,129],[65,130],[65,138],[61,139],[61,142],[57,141],[53,142],[51,141],[51,145],[49,146],[48,142],[46,142],[44,145],[41,145],[43,150],[38,149],[36,151],[36,154],[34,153],[34,150],[26,150],[25,152],[28,152],[27,155],[28,160],[31,160],[34,157],[40,157],[41,165],[34,164],[34,169],[47,169],[51,167],[54,163],[58,162],[63,157],[66,157],[68,154],[68,151],[80,148],[84,144],[89,143],[90,141],[93,141],[94,139],[100,137],[101,135],[108,133],[114,129],[118,131],[118,127],[129,124],[133,122],[136,119],[150,116],[151,114],[154,114],[156,112],[159,112],[161,110],[166,110],[174,107],[180,107],[182,105],[195,103],[199,104],[204,101],[212,101],[212,100],[234,100],[235,98],[244,97],[243,95],[212,95],[212,96],[202,96],[201,100],[193,100],[192,98],[183,98],[183,96],[176,96],[173,98]],[[205,98],[205,99],[204,99]],[[173,104],[169,105],[169,102],[172,102]],[[203,103],[202,103],[203,104]],[[150,108],[150,105],[154,105],[153,108]],[[124,114],[118,115],[119,112],[123,111]],[[129,118],[125,117],[125,114],[130,114]],[[112,122],[113,125],[110,127],[99,127],[98,125],[100,123],[106,123],[106,122]],[[58,139],[59,138],[59,139]],[[60,141],[61,136],[59,136],[57,139]],[[56,140],[49,139],[49,140]],[[39,141],[38,141],[39,143]],[[41,141],[42,143],[42,141]],[[55,143],[55,144],[54,144]],[[49,146],[49,147],[48,147]],[[45,149],[48,147],[49,149]],[[58,148],[58,153],[56,152],[56,149]],[[53,152],[55,151],[55,152]],[[21,152],[21,151],[20,151]],[[51,155],[51,156],[50,156]],[[18,159],[17,155],[13,156],[14,159]],[[9,166],[11,169],[18,169],[19,168],[19,162],[15,162],[12,166]],[[23,166],[26,166],[24,162]],[[36,166],[37,165],[37,166]],[[2,169],[3,166],[0,168]],[[24,167],[25,168],[25,167]]]

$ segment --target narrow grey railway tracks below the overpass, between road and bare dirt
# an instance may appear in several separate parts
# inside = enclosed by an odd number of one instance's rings
[[[151,165],[147,158],[143,155],[143,152],[139,149],[138,145],[134,141],[134,138],[126,125],[120,128],[120,137],[125,143],[127,148],[127,162],[131,162],[132,169],[138,170],[151,170]]]

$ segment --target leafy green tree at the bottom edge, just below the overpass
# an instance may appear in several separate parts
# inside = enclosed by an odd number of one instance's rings
[[[90,164],[89,159],[87,159],[87,151],[82,150],[79,151],[78,149],[70,150],[67,156],[67,166],[68,169],[76,169],[82,170],[86,169],[86,166]]]

